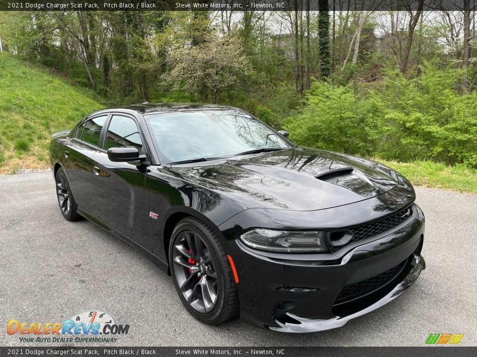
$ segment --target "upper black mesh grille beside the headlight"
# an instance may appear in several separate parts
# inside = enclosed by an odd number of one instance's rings
[[[360,241],[363,239],[371,238],[377,236],[383,232],[389,231],[394,227],[400,225],[406,219],[411,216],[412,210],[410,207],[406,207],[403,210],[400,210],[396,214],[386,217],[382,220],[371,222],[362,226],[358,226],[355,228],[349,229],[353,233],[353,238],[347,243],[353,243],[356,241]],[[330,246],[329,249],[331,252],[334,252],[338,249],[342,248],[342,246]]]

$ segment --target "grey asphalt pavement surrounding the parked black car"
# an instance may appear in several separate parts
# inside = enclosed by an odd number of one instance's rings
[[[145,256],[86,220],[63,219],[50,171],[0,177],[0,346],[28,345],[6,333],[8,319],[61,322],[96,309],[130,325],[108,346],[423,346],[430,333],[463,333],[460,345],[477,346],[477,195],[416,192],[427,263],[416,283],[339,329],[283,334],[239,319],[200,323]]]

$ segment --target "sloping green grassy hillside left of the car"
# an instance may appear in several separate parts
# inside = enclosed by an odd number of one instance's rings
[[[48,168],[51,134],[99,108],[62,77],[0,53],[0,175]]]

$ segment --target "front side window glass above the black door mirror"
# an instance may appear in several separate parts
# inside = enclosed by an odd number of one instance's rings
[[[104,150],[113,147],[134,146],[141,152],[143,142],[136,121],[129,117],[115,115],[109,122]]]

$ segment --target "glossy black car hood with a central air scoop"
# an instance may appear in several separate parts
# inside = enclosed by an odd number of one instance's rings
[[[192,184],[238,195],[247,208],[301,211],[362,201],[398,184],[394,171],[373,161],[299,147],[173,165],[170,173]]]

